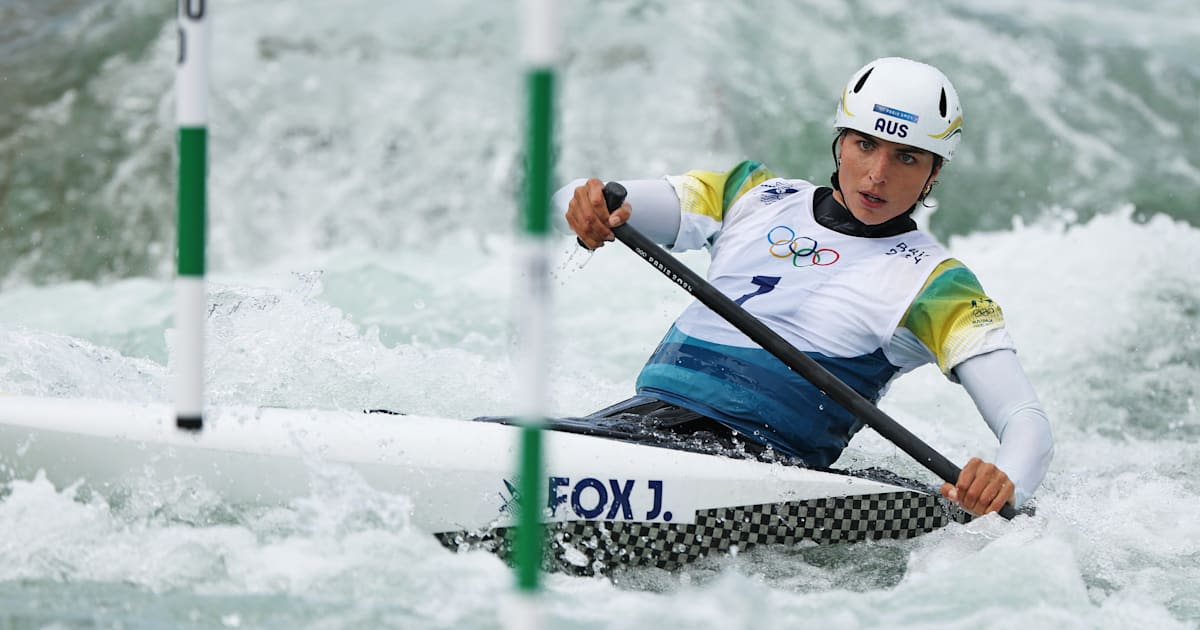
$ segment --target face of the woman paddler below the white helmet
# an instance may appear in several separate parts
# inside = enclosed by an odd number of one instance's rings
[[[847,130],[841,140],[841,166],[834,197],[856,218],[874,226],[902,215],[917,203],[940,168],[934,154]]]

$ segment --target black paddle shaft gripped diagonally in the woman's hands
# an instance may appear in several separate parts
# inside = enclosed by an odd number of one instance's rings
[[[625,202],[625,187],[616,181],[610,181],[605,185],[604,199],[610,212],[620,208]],[[784,337],[780,337],[778,332],[767,328],[766,324],[734,304],[724,293],[716,290],[708,281],[688,268],[688,265],[676,260],[666,250],[647,239],[632,226],[618,226],[612,228],[612,232],[620,242],[634,250],[634,253],[641,256],[647,263],[650,263],[654,269],[658,269],[664,276],[671,278],[672,282],[692,294],[701,304],[725,318],[726,322],[733,324],[743,335],[750,337],[758,346],[762,346],[763,349],[775,355],[780,361],[784,361],[784,365],[791,367],[796,373],[816,385],[827,396],[846,409],[850,409],[856,418],[899,446],[900,450],[907,452],[918,463],[929,468],[947,482],[958,484],[959,473],[962,470],[954,462],[947,460],[946,456],[922,442],[920,438],[893,420],[888,414],[881,412],[878,407],[871,404],[870,401],[851,389],[850,385],[829,373],[828,370],[822,367],[811,356],[797,350]],[[1016,516],[1016,510],[1006,503],[1000,509],[1000,515],[1004,518],[1013,518]]]

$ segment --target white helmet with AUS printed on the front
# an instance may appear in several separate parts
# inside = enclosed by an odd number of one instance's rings
[[[962,138],[962,107],[942,71],[888,56],[850,78],[833,126],[924,149],[949,162]]]

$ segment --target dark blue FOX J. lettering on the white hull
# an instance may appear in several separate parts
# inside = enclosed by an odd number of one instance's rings
[[[602,517],[606,521],[634,521],[636,502],[632,498],[636,485],[637,481],[632,479],[602,481],[592,476],[584,476],[572,485],[570,478],[552,476],[546,493],[546,506],[550,508],[551,516],[557,515],[560,505],[570,502],[571,511],[583,518]],[[646,511],[638,511],[636,520],[662,518],[671,521],[673,515],[670,511],[662,511],[662,480],[648,479],[644,487],[650,491],[650,498],[637,505]],[[644,497],[643,493],[638,494]],[[647,506],[646,503],[649,505]]]

